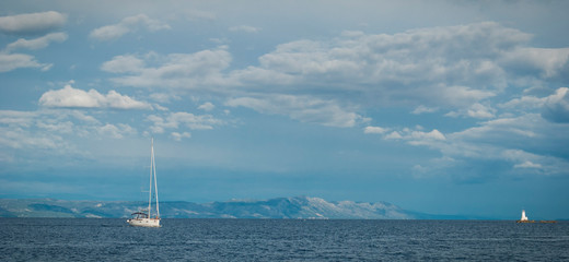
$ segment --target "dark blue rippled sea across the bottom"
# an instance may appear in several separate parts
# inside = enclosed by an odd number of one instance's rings
[[[569,222],[0,218],[0,261],[569,261]]]

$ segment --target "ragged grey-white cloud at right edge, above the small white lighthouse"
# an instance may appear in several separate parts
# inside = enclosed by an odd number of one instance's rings
[[[432,165],[419,165],[421,172],[460,177],[461,174],[453,172],[467,168],[473,174],[487,174],[485,168],[495,166],[506,174],[508,169],[512,174],[515,172],[513,169],[524,169],[524,174],[560,175],[569,168],[569,150],[565,146],[569,143],[569,136],[565,135],[567,128],[567,123],[547,121],[539,114],[524,114],[479,122],[449,133],[437,129],[425,132],[419,128],[390,128],[394,131],[378,134],[384,140],[440,152],[442,158],[433,160]],[[468,166],[468,163],[478,163],[479,166]],[[492,174],[498,172],[484,176]]]

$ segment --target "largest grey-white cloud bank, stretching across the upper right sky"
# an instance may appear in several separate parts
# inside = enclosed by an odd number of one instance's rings
[[[527,34],[491,22],[395,35],[349,33],[332,41],[282,44],[260,57],[259,62],[262,68],[305,80],[327,76],[323,81],[461,85],[489,76],[496,67],[489,59],[529,38]],[[333,78],[334,74],[341,78]]]

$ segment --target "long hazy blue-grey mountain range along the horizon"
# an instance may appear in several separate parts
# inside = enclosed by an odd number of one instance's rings
[[[67,201],[54,199],[0,199],[0,217],[130,217],[146,206],[140,201]],[[270,200],[231,200],[191,203],[160,202],[164,218],[314,218],[314,219],[436,219],[449,218],[405,211],[386,202],[328,202],[295,196]],[[461,217],[452,217],[461,218]]]

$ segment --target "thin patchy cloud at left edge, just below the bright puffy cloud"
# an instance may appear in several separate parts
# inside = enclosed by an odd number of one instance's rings
[[[74,142],[78,139],[121,139],[138,133],[129,124],[102,123],[88,114],[50,108],[36,111],[0,110],[0,151],[11,152],[15,156],[5,160],[25,164],[33,159],[43,160],[47,155],[67,155],[78,159],[89,157],[90,154],[77,148]]]

